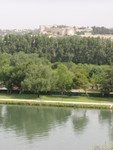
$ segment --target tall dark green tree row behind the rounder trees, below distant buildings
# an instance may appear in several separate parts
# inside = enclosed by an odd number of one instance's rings
[[[111,39],[91,37],[48,37],[26,35],[6,35],[0,37],[1,53],[24,52],[37,54],[51,63],[70,62],[75,64],[112,64],[113,42]]]

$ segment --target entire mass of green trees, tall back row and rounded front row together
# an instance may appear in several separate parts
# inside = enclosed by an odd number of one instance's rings
[[[6,35],[0,38],[0,51],[0,83],[9,92],[14,87],[20,93],[113,91],[113,48],[109,39]]]

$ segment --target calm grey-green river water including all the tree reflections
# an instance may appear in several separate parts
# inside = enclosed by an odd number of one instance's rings
[[[113,141],[113,112],[0,105],[1,150],[93,150]]]

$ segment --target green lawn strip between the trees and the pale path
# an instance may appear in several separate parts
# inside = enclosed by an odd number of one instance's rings
[[[40,96],[38,98],[38,95],[35,94],[0,94],[0,99],[43,99],[52,101],[113,103],[113,98],[87,96]]]

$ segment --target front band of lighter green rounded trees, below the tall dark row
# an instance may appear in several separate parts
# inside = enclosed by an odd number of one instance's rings
[[[51,63],[38,54],[13,55],[0,53],[0,82],[11,92],[18,87],[20,93],[30,91],[70,91],[72,89],[96,89],[103,94],[113,90],[113,68],[109,65]]]

